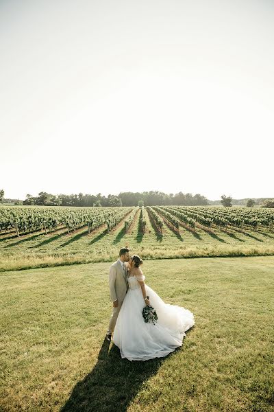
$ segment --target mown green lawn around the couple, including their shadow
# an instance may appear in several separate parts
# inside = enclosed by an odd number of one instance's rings
[[[146,362],[105,341],[109,267],[0,274],[1,411],[274,410],[274,256],[145,260],[147,284],[195,314],[182,347]]]

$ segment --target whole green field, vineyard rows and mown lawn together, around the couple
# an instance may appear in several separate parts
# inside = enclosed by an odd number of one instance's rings
[[[1,412],[274,411],[273,218],[0,207]],[[105,340],[108,271],[125,245],[166,303],[195,314],[166,358],[131,363]]]

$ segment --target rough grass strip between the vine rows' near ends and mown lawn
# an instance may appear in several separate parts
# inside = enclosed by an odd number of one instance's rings
[[[145,214],[147,211],[145,209]],[[140,233],[138,218],[129,233],[124,221],[110,233],[101,227],[88,233],[87,227],[68,234],[66,229],[48,233],[29,233],[17,238],[1,234],[0,271],[73,263],[110,262],[121,247],[130,249],[145,259],[193,258],[216,256],[274,255],[274,233],[269,231],[236,231],[214,233],[197,229],[196,233],[181,228],[175,233],[164,225],[162,235],[149,221],[145,234]]]

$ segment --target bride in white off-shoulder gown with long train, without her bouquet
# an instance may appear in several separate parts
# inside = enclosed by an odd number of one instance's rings
[[[186,330],[195,324],[190,310],[165,304],[145,285],[140,265],[142,259],[133,255],[129,260],[127,281],[129,290],[116,321],[112,341],[119,347],[122,358],[129,361],[147,361],[162,358],[182,346]],[[147,299],[149,297],[149,299]],[[145,305],[155,308],[158,321],[145,323],[142,309]]]

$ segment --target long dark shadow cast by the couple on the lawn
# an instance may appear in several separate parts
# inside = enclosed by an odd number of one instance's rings
[[[177,352],[177,350],[175,350]],[[142,386],[155,375],[165,359],[128,361],[122,359],[119,347],[105,339],[98,361],[90,374],[74,387],[69,400],[60,412],[112,412],[127,411]]]

